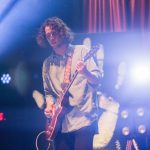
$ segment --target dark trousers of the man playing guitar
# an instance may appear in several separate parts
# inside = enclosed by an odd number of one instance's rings
[[[70,133],[58,133],[55,138],[55,150],[93,150],[93,136],[97,123]]]

